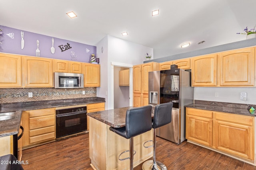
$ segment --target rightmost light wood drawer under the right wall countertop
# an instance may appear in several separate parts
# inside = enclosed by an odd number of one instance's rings
[[[231,113],[221,113],[221,112],[214,112],[216,115],[216,119],[224,120],[244,125],[253,125],[253,117],[252,116],[244,116],[244,115],[235,115]]]

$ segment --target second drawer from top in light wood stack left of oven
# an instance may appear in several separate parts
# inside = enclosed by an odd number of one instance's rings
[[[38,129],[42,127],[54,126],[55,115],[39,116],[29,118],[29,129]]]

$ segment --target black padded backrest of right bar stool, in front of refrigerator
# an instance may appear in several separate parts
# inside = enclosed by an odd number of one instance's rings
[[[172,102],[156,105],[152,128],[156,129],[172,121],[172,106]]]

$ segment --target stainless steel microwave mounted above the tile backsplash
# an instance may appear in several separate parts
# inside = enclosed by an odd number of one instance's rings
[[[54,88],[84,88],[84,74],[54,72]]]

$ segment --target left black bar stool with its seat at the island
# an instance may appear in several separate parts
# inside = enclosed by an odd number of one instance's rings
[[[152,117],[151,117],[152,106],[142,106],[127,109],[125,118],[125,127],[114,128],[110,127],[110,131],[126,138],[130,139],[130,157],[120,159],[120,156],[124,153],[122,152],[119,156],[119,160],[126,160],[130,158],[130,170],[133,169],[133,156],[136,151],[133,150],[133,137],[150,131],[152,128]],[[135,152],[135,153],[133,153]]]

